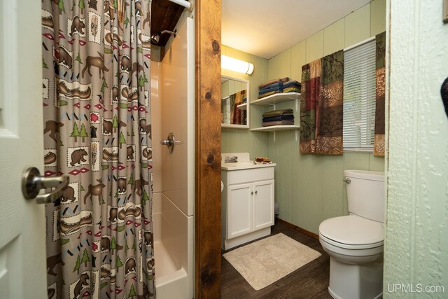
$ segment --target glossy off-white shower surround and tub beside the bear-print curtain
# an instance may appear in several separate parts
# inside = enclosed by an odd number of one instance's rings
[[[151,62],[153,229],[158,299],[193,298],[195,202],[195,27],[192,18],[162,62]],[[160,140],[174,133],[169,154]]]

